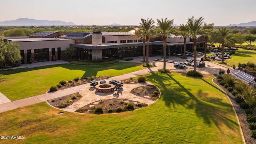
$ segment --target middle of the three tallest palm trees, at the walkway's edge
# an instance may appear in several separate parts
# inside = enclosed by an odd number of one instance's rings
[[[169,36],[170,34],[173,33],[173,21],[174,20],[167,20],[167,18],[165,18],[163,20],[163,18],[161,20],[156,19],[157,20],[157,30],[156,30],[156,35],[158,36],[162,36],[163,41],[164,41],[164,70],[166,69],[166,40],[167,40],[167,36]]]

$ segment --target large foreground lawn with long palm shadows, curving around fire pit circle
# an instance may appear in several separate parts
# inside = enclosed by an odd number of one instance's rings
[[[242,144],[227,96],[214,76],[150,74],[162,95],[132,112],[88,115],[64,112],[46,102],[0,113],[1,135],[25,136],[4,143],[194,143]]]

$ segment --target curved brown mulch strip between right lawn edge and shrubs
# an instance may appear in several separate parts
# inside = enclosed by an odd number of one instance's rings
[[[244,109],[240,108],[239,104],[236,103],[236,99],[235,97],[231,94],[231,92],[228,92],[228,90],[220,85],[220,83],[218,83],[217,78],[213,79],[213,82],[215,84],[217,84],[220,88],[222,88],[222,90],[228,95],[228,97],[230,98],[235,110],[236,110],[236,114],[238,116],[241,128],[242,128],[242,132],[244,134],[244,139],[246,141],[246,144],[255,144],[255,140],[254,138],[250,137],[250,133],[251,130],[248,128],[248,122],[246,121],[246,115],[244,114]]]

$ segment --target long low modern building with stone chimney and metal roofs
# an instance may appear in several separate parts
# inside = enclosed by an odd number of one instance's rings
[[[130,58],[143,55],[143,42],[137,36],[132,36],[135,30],[129,32],[56,32],[41,31],[29,37],[8,37],[20,45],[22,63],[42,62],[63,59],[67,47],[77,49],[76,58],[104,59]],[[204,37],[198,36],[198,46],[204,46]],[[192,38],[186,38],[186,50],[193,51]],[[184,39],[181,36],[167,38],[168,56],[183,53]],[[150,55],[163,55],[162,38],[151,38],[149,42]],[[30,59],[31,58],[31,59]]]

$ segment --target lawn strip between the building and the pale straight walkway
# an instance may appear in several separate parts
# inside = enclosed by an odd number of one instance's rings
[[[118,76],[142,69],[144,67],[138,63],[119,62],[101,66],[60,64],[0,71],[4,74],[0,77],[0,92],[14,101],[44,94],[50,86],[58,84],[61,80],[88,76]]]

